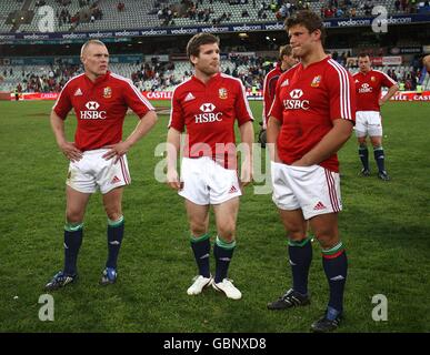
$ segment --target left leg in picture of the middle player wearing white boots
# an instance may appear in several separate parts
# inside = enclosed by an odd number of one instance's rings
[[[199,275],[194,277],[187,293],[189,295],[197,295],[212,283],[209,263],[209,204],[200,205],[186,199],[186,210],[191,232],[190,244],[199,268]]]

